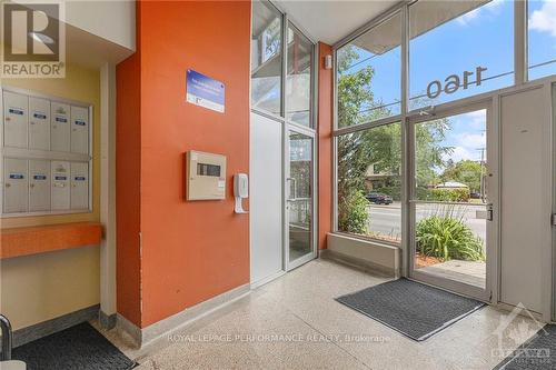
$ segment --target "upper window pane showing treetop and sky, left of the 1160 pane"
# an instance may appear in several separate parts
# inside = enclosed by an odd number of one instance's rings
[[[400,113],[399,13],[337,51],[338,127]]]

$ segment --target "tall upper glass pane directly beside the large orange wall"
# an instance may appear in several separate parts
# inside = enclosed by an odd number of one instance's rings
[[[271,4],[252,2],[251,107],[279,116],[281,16]]]

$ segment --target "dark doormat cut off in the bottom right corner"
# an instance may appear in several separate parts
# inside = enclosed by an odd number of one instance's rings
[[[554,370],[556,369],[556,326],[545,326],[496,370]]]

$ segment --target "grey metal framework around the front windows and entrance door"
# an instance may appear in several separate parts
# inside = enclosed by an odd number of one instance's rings
[[[413,140],[409,140],[409,138],[413,134],[413,124],[409,124],[408,121],[414,119],[415,114],[418,114],[423,109],[417,109],[409,111],[408,107],[408,93],[409,93],[409,7],[415,3],[416,0],[405,0],[400,1],[397,4],[393,6],[390,9],[381,13],[380,16],[371,19],[369,22],[364,24],[363,27],[358,28],[350,34],[342,38],[340,41],[336,42],[332,46],[334,50],[334,130],[332,130],[332,214],[331,214],[331,221],[332,221],[332,231],[338,232],[338,200],[337,200],[337,193],[338,193],[338,187],[337,187],[337,179],[338,179],[338,168],[337,168],[337,153],[338,153],[338,148],[337,148],[337,138],[341,134],[350,133],[350,132],[356,132],[359,130],[366,130],[376,126],[381,126],[381,124],[388,124],[395,121],[401,121],[401,244],[399,248],[403,250],[403,269],[401,269],[401,276],[408,277],[410,274],[410,263],[409,261],[411,260],[410,258],[410,250],[409,248],[410,243],[409,238],[413,234],[411,230],[411,223],[413,220],[410,218],[409,212],[409,200],[414,198],[414,189],[411,189],[408,181],[411,177],[411,173],[414,173],[414,163],[413,161],[409,160],[409,156],[411,152],[414,152],[415,148],[413,146]],[[512,91],[518,91],[522,89],[527,89],[532,88],[534,84],[539,84],[539,83],[555,83],[556,86],[556,78],[554,76],[552,77],[545,77],[542,79],[536,79],[533,82],[528,80],[528,30],[527,30],[527,16],[528,16],[528,0],[515,0],[514,3],[514,74],[515,74],[515,83],[514,86],[495,90],[495,91],[488,91],[475,96],[470,96],[464,99],[459,100],[454,100],[447,103],[443,103],[436,108],[433,107],[431,112],[440,112],[440,111],[456,111],[458,108],[465,109],[466,107],[473,107],[475,104],[486,104],[488,106],[488,120],[492,122],[489,126],[493,129],[493,132],[490,133],[492,138],[494,138],[494,141],[496,141],[496,150],[498,151],[498,142],[499,142],[499,99],[500,96],[505,93],[510,93]],[[375,28],[379,26],[381,22],[386,21],[390,17],[395,16],[396,12],[400,12],[401,14],[401,66],[400,66],[400,76],[401,76],[401,112],[398,116],[377,120],[374,122],[366,122],[357,126],[351,126],[347,128],[338,128],[338,120],[337,120],[337,112],[338,112],[338,83],[337,83],[337,78],[338,78],[338,71],[337,71],[337,51],[339,48],[346,46],[347,43],[351,42],[354,39],[359,37],[360,34],[367,32],[371,28]],[[553,101],[552,101],[552,111],[553,111],[553,120],[554,120],[554,126],[555,129],[553,130],[553,137],[552,137],[552,143],[553,143],[553,151],[554,154],[556,156],[556,148],[554,148],[554,144],[556,143],[556,87],[553,88],[552,90],[553,94]],[[415,119],[414,119],[415,120]],[[488,129],[488,128],[487,128]],[[498,166],[498,169],[500,169],[500,158],[498,152],[495,153],[496,156],[496,164]],[[495,160],[494,157],[492,157],[493,160]],[[490,162],[490,161],[489,161]],[[553,163],[553,166],[556,166]],[[556,183],[556,168],[553,169],[553,213],[556,213],[556,189],[554,188],[554,183]],[[496,188],[496,198],[499,198],[499,189],[500,189],[500,183],[499,183],[499,178],[496,179],[495,184],[493,186]],[[502,214],[500,213],[500,204],[499,204],[499,199],[494,200],[495,203],[495,214]],[[498,302],[498,297],[499,297],[499,241],[498,241],[498,236],[499,236],[499,222],[496,223],[496,226],[493,228],[494,232],[496,234],[496,241],[494,244],[496,246],[495,252],[492,253],[493,256],[489,256],[490,260],[490,290],[492,290],[492,301],[494,303]],[[553,268],[556,267],[556,228],[553,230],[553,250],[552,250],[552,261],[553,261]],[[547,272],[548,273],[548,272]],[[552,302],[552,318],[556,320],[556,276],[552,278],[552,290],[550,294],[553,296],[553,302]],[[546,291],[547,292],[547,291]],[[490,297],[489,297],[490,298]]]

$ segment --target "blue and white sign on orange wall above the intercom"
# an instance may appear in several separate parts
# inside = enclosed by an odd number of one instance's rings
[[[224,113],[226,103],[222,82],[188,69],[186,90],[187,101],[191,104]]]

